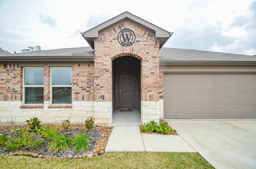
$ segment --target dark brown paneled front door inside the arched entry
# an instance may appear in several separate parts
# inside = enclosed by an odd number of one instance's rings
[[[120,76],[120,108],[134,108],[134,77]]]

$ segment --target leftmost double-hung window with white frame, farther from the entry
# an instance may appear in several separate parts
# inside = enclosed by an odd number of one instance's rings
[[[24,103],[44,104],[44,68],[24,68]]]

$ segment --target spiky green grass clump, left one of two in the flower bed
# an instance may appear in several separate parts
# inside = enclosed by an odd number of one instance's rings
[[[49,151],[54,151],[57,153],[58,151],[63,151],[68,149],[68,144],[72,142],[72,138],[66,137],[64,135],[56,136],[49,144]]]

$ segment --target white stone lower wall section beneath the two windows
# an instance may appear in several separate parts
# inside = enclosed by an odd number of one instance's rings
[[[69,116],[72,123],[84,123],[88,116],[94,117],[94,101],[73,101],[72,108],[48,108],[48,104],[48,101],[44,101],[42,108],[20,108],[22,101],[0,101],[0,125],[11,121],[26,124],[25,121],[33,117],[42,123],[54,124],[60,124]]]

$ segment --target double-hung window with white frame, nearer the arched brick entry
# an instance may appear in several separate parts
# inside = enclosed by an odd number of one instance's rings
[[[72,104],[72,68],[52,67],[52,104]]]

